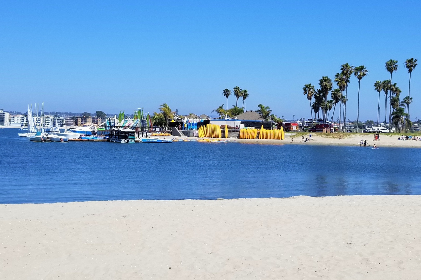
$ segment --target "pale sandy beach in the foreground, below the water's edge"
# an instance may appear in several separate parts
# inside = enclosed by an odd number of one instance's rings
[[[0,204],[0,243],[0,279],[420,279],[421,196]]]

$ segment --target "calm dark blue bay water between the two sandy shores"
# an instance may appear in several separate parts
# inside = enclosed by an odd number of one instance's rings
[[[421,194],[421,149],[32,143],[0,129],[0,203]]]

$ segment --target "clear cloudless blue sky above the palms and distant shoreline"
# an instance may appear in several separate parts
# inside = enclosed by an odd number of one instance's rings
[[[210,114],[225,104],[223,89],[240,86],[250,93],[247,110],[263,103],[278,116],[309,118],[304,84],[333,79],[348,62],[369,70],[360,119],[376,119],[373,83],[389,79],[386,60],[399,61],[393,81],[402,97],[403,62],[421,64],[420,11],[420,1],[3,0],[0,107],[26,111],[45,101],[46,110],[152,113],[165,102],[182,114]],[[411,89],[415,120],[421,65]],[[356,119],[355,78],[348,99]],[[382,102],[383,111],[383,94]]]

